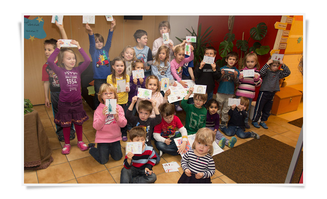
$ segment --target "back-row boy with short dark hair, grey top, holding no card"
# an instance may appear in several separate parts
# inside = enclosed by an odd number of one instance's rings
[[[152,65],[152,52],[147,46],[148,34],[145,30],[136,30],[134,33],[134,38],[137,42],[134,46],[136,59],[140,59],[144,64],[144,76],[148,77],[151,75],[151,65]]]

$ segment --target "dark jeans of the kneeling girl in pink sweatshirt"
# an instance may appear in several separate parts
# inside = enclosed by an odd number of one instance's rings
[[[123,157],[119,140],[112,143],[98,143],[97,148],[91,148],[89,153],[100,164],[106,164],[109,161],[109,154],[116,161]]]

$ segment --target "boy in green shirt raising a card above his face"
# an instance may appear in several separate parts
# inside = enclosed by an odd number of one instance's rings
[[[194,94],[194,104],[188,104],[187,100],[192,95],[194,88],[190,88],[188,94],[181,102],[182,108],[186,112],[185,128],[188,135],[195,134],[200,128],[206,127],[207,109],[203,106],[207,99],[207,94]]]

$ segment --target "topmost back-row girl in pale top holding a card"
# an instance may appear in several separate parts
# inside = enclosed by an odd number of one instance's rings
[[[154,40],[153,42],[153,46],[152,46],[152,56],[156,56],[156,54],[159,51],[159,47],[160,46],[166,46],[168,47],[168,52],[167,53],[167,57],[168,57],[168,61],[170,62],[170,56],[173,55],[173,50],[172,48],[174,47],[174,42],[169,39],[166,44],[164,44],[164,41],[163,41],[163,37],[162,37],[162,34],[163,33],[169,33],[170,32],[170,24],[169,24],[169,21],[161,21],[159,23],[159,33],[160,33],[160,37],[156,40]]]

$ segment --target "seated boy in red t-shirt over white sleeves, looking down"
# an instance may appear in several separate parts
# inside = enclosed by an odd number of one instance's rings
[[[175,156],[186,152],[187,130],[181,120],[174,115],[175,106],[171,103],[163,103],[160,104],[159,111],[162,117],[161,123],[156,125],[153,130],[154,143],[159,150],[159,156],[162,156],[163,153]],[[182,143],[177,147],[174,139],[181,136]]]

